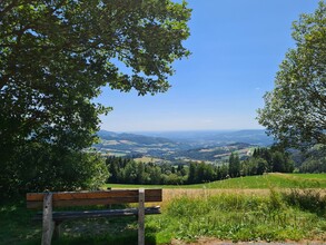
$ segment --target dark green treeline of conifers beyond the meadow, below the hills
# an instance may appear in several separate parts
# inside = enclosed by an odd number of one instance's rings
[[[187,165],[145,164],[121,157],[108,157],[106,163],[110,173],[108,183],[112,184],[185,185],[294,170],[287,153],[267,148],[255,149],[253,156],[243,161],[238,154],[231,154],[228,163],[221,165],[194,161]]]

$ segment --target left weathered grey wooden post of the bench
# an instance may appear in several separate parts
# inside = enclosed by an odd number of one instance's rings
[[[47,193],[43,198],[42,245],[51,245],[53,234],[52,194]]]

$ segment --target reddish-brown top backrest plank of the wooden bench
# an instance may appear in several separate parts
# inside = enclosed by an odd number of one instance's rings
[[[27,207],[42,208],[46,193],[28,193]],[[53,207],[138,203],[138,189],[52,193]],[[145,189],[145,202],[161,202],[161,189]]]

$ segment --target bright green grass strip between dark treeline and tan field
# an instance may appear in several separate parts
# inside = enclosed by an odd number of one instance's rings
[[[326,188],[326,174],[267,174],[229,178],[198,185],[124,185],[108,184],[111,188],[230,188],[230,189],[268,189],[277,188]]]

